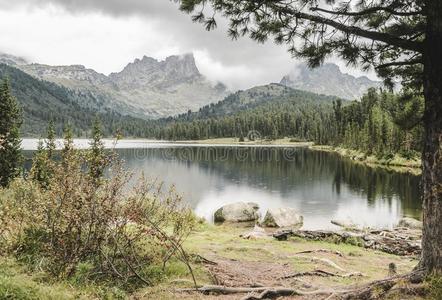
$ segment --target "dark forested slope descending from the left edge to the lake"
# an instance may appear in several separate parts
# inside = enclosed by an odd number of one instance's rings
[[[38,80],[14,67],[0,64],[0,78],[9,78],[13,95],[23,110],[22,136],[40,136],[49,120],[54,120],[57,133],[70,124],[76,136],[85,136],[98,116],[107,136],[143,136],[146,121],[100,110],[100,101],[54,83]]]

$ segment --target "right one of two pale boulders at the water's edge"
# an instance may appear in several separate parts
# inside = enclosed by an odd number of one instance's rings
[[[291,207],[270,208],[262,222],[267,227],[297,227],[303,224],[303,217]]]

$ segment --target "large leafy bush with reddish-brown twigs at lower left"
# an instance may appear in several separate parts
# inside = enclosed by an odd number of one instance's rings
[[[181,197],[144,179],[128,190],[130,174],[102,154],[78,151],[68,139],[48,184],[30,176],[0,190],[0,251],[59,278],[125,288],[151,284],[151,267],[172,258],[192,271],[182,243],[195,218]]]

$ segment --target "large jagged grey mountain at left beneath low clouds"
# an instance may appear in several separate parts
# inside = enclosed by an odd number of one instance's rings
[[[141,118],[176,115],[219,101],[227,94],[221,83],[209,82],[192,54],[164,61],[144,56],[109,76],[82,65],[29,64],[11,55],[0,61],[45,81],[98,99],[102,108]]]

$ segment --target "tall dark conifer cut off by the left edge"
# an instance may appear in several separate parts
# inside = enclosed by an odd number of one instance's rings
[[[20,174],[22,165],[20,126],[22,112],[11,94],[9,80],[0,85],[0,186]]]

